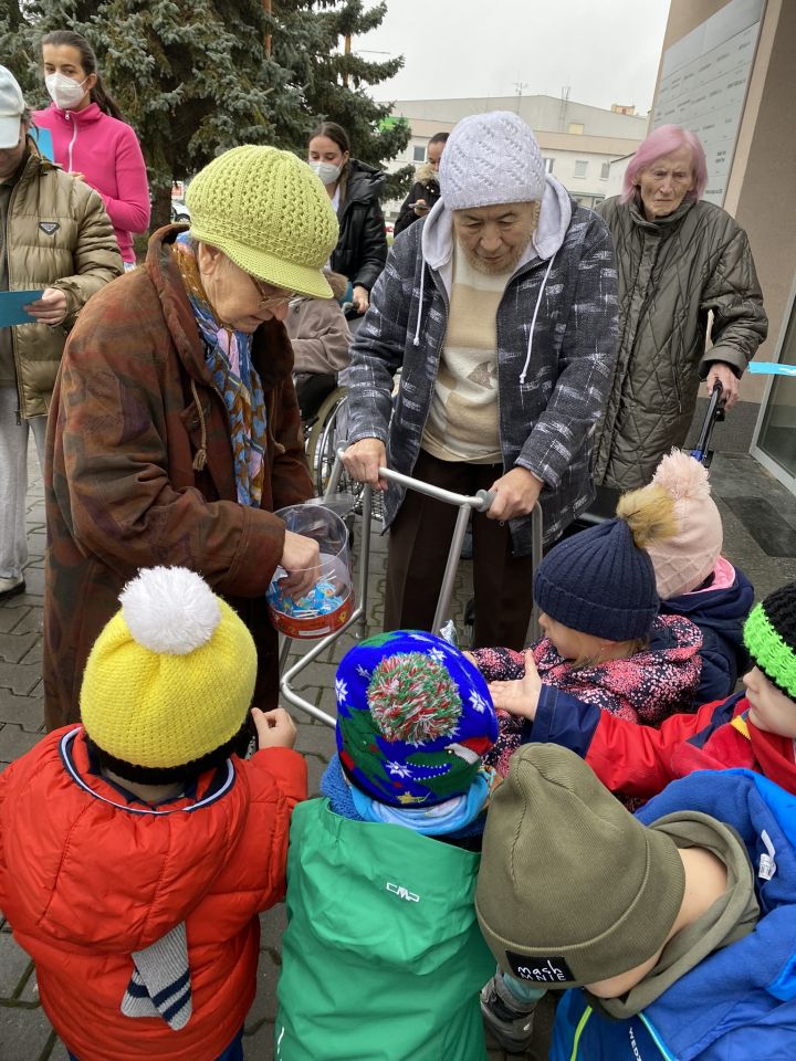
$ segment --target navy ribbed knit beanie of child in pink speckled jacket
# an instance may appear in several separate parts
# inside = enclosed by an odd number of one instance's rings
[[[625,519],[551,549],[536,569],[534,599],[551,619],[608,641],[646,638],[660,605],[652,560]]]

